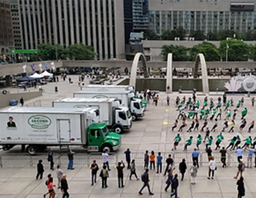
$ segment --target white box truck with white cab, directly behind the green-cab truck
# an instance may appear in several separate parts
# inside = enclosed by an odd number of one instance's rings
[[[99,110],[99,121],[107,123],[111,131],[124,132],[132,126],[132,116],[128,107],[120,106],[116,99],[105,98],[65,98],[53,101],[53,107],[86,108]]]

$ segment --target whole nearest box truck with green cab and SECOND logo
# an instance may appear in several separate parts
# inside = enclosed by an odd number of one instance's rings
[[[121,135],[109,132],[107,124],[96,123],[92,108],[11,107],[0,111],[0,145],[16,145],[34,154],[47,146],[83,146],[88,151],[114,151]]]

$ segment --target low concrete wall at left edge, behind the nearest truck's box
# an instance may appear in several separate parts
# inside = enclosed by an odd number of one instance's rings
[[[7,93],[6,95],[0,93],[0,108],[9,106],[11,100],[17,100],[18,102],[20,102],[20,98],[23,97],[24,104],[26,104],[26,100],[33,99],[39,96],[42,96],[42,91]]]

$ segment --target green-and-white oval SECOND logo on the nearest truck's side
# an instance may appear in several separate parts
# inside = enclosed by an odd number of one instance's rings
[[[51,119],[45,115],[33,115],[28,118],[28,124],[33,129],[47,129],[51,125]]]

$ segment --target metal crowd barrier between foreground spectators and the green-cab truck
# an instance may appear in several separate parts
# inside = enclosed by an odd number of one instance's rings
[[[165,164],[165,159],[168,158],[169,154],[172,155],[172,159],[174,160],[174,164],[177,166],[182,159],[186,159],[186,163],[192,164],[192,156],[191,151],[173,151],[173,152],[161,152],[161,156],[163,157],[163,164]],[[131,153],[131,159],[135,159],[136,164],[144,163],[144,153],[135,152]],[[156,153],[156,156],[158,154]],[[212,156],[214,156],[217,165],[221,165],[221,153],[218,151],[213,151]],[[248,152],[243,152],[244,163],[247,163]],[[24,168],[24,167],[35,167],[38,161],[41,159],[44,165],[49,164],[48,155],[46,153],[39,153],[36,155],[28,155],[28,154],[2,154],[0,156],[0,167],[7,168]],[[93,160],[96,160],[98,164],[102,164],[102,156],[101,153],[90,153],[90,154],[75,154],[74,155],[74,165],[87,165],[93,163]],[[68,165],[68,156],[67,154],[54,154],[53,161],[55,165]],[[109,163],[116,165],[118,162],[125,162],[125,154],[115,154],[109,153]],[[253,160],[254,161],[254,160]],[[205,151],[200,152],[199,163],[201,166],[207,166],[208,155]],[[237,156],[236,153],[231,151],[226,154],[226,164],[229,167],[236,166]]]

